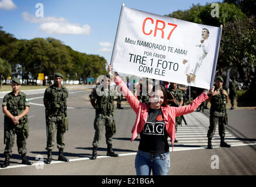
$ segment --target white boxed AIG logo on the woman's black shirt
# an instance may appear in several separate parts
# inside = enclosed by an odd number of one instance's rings
[[[147,122],[144,126],[144,134],[164,135],[164,122]]]

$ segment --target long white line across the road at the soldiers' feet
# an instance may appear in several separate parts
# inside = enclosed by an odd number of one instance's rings
[[[238,146],[255,146],[256,143],[250,143],[250,144],[236,144],[236,145],[232,145],[232,147],[238,147]],[[177,147],[176,147],[177,148]],[[174,149],[174,152],[176,151],[191,151],[191,150],[201,150],[201,149],[206,149],[207,147],[189,147],[189,148],[177,148]],[[213,146],[213,148],[220,148],[220,146]],[[172,151],[169,151],[172,152]],[[137,152],[135,153],[124,153],[124,154],[119,154],[119,157],[125,157],[125,156],[130,156],[130,155],[136,155]],[[108,158],[109,156],[98,156],[97,159],[99,158]],[[82,161],[82,160],[89,160],[90,158],[86,157],[86,158],[74,158],[74,159],[70,159],[70,162],[75,162],[75,161]],[[52,161],[51,164],[59,164],[59,163],[65,163],[62,161]],[[37,161],[36,163],[34,163],[33,165],[12,165],[9,166],[7,168],[0,168],[1,169],[11,169],[11,168],[23,168],[23,167],[34,167],[36,165],[46,165],[44,164],[44,162],[39,162]]]

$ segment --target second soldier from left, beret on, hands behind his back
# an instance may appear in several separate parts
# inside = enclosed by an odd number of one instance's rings
[[[58,160],[68,162],[64,157],[63,150],[64,133],[68,130],[67,98],[68,90],[61,85],[63,75],[59,72],[54,74],[54,84],[49,86],[44,92],[44,106],[46,107],[46,133],[47,133],[47,160],[51,163],[51,150],[54,148],[54,136],[57,130]]]

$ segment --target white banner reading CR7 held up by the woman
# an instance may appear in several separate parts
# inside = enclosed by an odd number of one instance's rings
[[[209,89],[222,28],[122,6],[113,71]]]

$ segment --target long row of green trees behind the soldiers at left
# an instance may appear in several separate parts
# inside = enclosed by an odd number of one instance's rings
[[[27,84],[29,79],[33,79],[33,84],[36,84],[39,72],[49,79],[53,79],[54,72],[61,72],[64,81],[80,81],[81,78],[96,78],[106,74],[106,60],[103,57],[79,53],[51,37],[18,40],[1,29],[0,57],[11,64],[12,75],[21,76]]]

